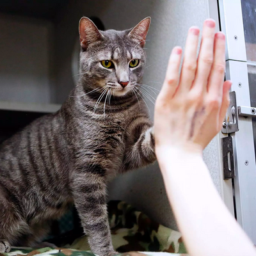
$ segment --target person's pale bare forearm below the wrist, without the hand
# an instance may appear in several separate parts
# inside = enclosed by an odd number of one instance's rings
[[[256,255],[214,188],[200,152],[166,147],[157,150],[157,157],[191,256]]]

